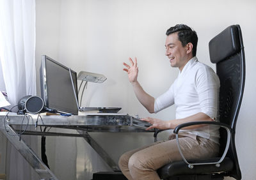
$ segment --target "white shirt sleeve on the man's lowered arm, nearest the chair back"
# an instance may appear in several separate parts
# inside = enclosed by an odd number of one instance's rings
[[[218,114],[218,100],[220,80],[210,68],[200,68],[196,74],[196,91],[200,101],[201,111],[207,116],[216,119]]]

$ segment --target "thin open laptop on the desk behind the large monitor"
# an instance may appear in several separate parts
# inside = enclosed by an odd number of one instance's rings
[[[119,110],[122,109],[121,107],[79,107],[78,98],[77,98],[77,94],[76,94],[76,89],[75,89],[74,82],[73,82],[73,79],[72,79],[71,69],[68,68],[68,70],[69,70],[69,75],[70,75],[70,79],[71,79],[71,82],[72,82],[73,93],[74,93],[74,96],[76,98],[77,109],[80,112],[116,113],[116,112],[118,112]],[[77,83],[76,83],[76,86],[77,86]]]

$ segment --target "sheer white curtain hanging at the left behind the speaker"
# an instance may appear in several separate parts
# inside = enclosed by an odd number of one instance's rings
[[[10,103],[17,105],[23,96],[35,95],[35,0],[0,0],[0,57]],[[36,138],[25,140],[37,146]],[[8,179],[35,179],[29,164],[10,143],[7,152]]]

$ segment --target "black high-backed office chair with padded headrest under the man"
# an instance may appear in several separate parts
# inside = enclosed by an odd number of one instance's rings
[[[220,78],[220,123],[193,122],[180,124],[173,131],[195,124],[216,124],[220,128],[220,157],[207,160],[176,161],[157,170],[165,180],[241,179],[237,160],[236,121],[241,106],[245,80],[244,47],[239,25],[229,26],[209,42],[210,59],[216,63]],[[212,163],[212,164],[211,164]]]

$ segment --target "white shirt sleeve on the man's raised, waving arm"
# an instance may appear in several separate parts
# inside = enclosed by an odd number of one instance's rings
[[[154,112],[157,113],[167,107],[170,107],[174,104],[174,91],[173,91],[173,84],[172,86],[166,91],[165,93],[161,94],[155,100],[154,104]]]

